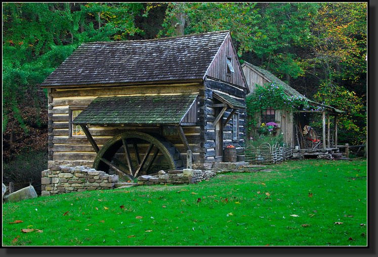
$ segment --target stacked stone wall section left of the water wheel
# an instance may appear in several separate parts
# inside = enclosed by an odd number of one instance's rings
[[[109,175],[84,166],[52,166],[41,174],[41,196],[113,189],[116,182],[118,175]]]

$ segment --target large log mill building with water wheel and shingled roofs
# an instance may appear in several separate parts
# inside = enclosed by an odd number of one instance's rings
[[[249,89],[229,31],[82,43],[41,87],[55,164],[204,169],[245,136]]]

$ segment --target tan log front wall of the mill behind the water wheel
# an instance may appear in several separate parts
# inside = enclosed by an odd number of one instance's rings
[[[193,162],[200,163],[204,160],[204,85],[198,82],[136,85],[114,87],[92,87],[72,89],[49,89],[49,160],[56,162],[90,161],[96,157],[96,152],[86,137],[69,137],[69,108],[86,107],[98,96],[125,96],[138,94],[179,94],[198,93],[197,107],[189,111],[197,112],[197,122],[190,126],[182,126],[184,134],[193,152]],[[191,122],[188,119],[187,122]],[[178,135],[177,128],[167,126],[89,126],[89,130],[101,148],[101,146],[114,135],[124,131],[140,131],[156,133],[171,141],[186,161],[186,148]],[[168,132],[167,132],[168,131]]]

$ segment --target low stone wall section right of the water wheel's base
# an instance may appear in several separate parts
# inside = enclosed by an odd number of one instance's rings
[[[184,169],[169,172],[159,171],[159,174],[155,176],[144,175],[138,177],[138,185],[193,184],[215,176],[215,172],[193,169]]]

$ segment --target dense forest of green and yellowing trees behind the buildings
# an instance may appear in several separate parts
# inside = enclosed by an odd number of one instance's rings
[[[219,30],[230,30],[241,63],[344,111],[341,144],[366,142],[366,2],[3,3],[3,180],[22,180],[12,178],[21,163],[24,176],[45,169],[47,93],[38,85],[81,43]]]

